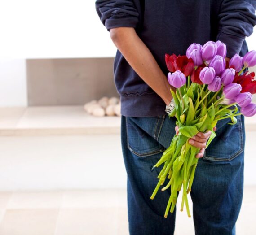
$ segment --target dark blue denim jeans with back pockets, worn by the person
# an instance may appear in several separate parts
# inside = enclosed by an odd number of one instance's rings
[[[244,117],[234,126],[229,121],[218,122],[217,137],[196,168],[191,191],[196,235],[235,234],[243,197]],[[150,200],[161,166],[150,169],[169,147],[174,127],[175,119],[168,115],[121,117],[130,235],[174,233],[176,211],[163,217],[170,191],[159,191]]]

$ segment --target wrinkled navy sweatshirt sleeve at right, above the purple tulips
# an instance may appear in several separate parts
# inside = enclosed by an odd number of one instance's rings
[[[217,40],[227,46],[227,57],[240,52],[245,37],[256,25],[256,0],[223,0],[218,14]]]

